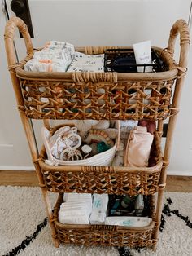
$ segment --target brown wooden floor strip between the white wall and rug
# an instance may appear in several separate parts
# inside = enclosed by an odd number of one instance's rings
[[[0,185],[37,187],[38,181],[35,171],[0,170]],[[192,192],[192,177],[168,176],[166,191]]]

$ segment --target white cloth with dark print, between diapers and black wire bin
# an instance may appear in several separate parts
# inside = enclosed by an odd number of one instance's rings
[[[104,72],[104,55],[85,55],[84,53],[75,52],[72,64],[68,72]]]

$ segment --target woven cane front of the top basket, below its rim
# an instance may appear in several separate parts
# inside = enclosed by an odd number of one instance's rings
[[[65,82],[20,80],[25,113],[50,119],[165,119],[174,80]]]

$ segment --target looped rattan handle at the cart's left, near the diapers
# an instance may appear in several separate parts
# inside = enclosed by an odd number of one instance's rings
[[[27,48],[27,54],[33,54],[33,44],[28,33],[27,25],[20,18],[12,17],[10,20],[7,21],[4,34],[5,46],[7,51],[7,61],[9,66],[16,64],[15,48],[13,43],[16,27],[20,30],[20,33],[22,33],[24,37],[25,46]]]

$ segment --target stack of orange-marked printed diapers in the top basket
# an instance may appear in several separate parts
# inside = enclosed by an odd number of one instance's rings
[[[36,51],[33,59],[24,65],[25,71],[65,72],[72,63],[75,50],[68,42],[50,41],[41,51]]]

